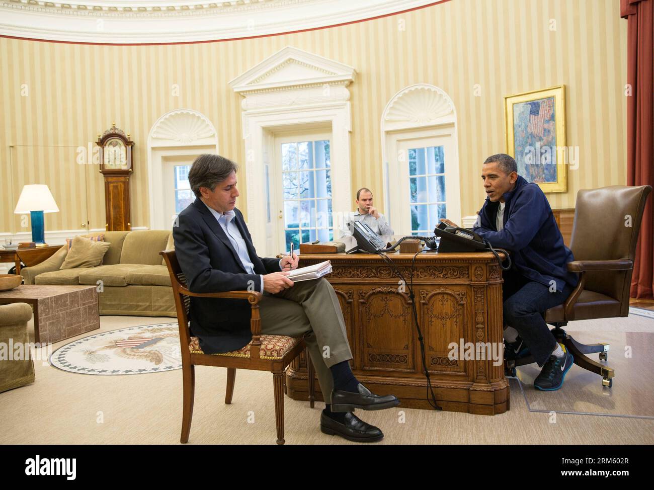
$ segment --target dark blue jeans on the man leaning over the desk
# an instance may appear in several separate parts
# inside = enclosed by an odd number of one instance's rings
[[[538,366],[543,366],[557,347],[545,323],[545,310],[562,304],[573,288],[566,284],[562,291],[550,292],[549,287],[529,281],[515,269],[503,271],[502,278],[504,323],[517,330]]]

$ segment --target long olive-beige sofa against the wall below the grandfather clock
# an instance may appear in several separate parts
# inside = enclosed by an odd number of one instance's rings
[[[97,234],[90,234],[92,236]],[[100,315],[175,317],[175,300],[162,250],[173,248],[172,233],[165,230],[105,232],[111,243],[97,267],[59,270],[67,247],[48,260],[20,270],[26,284],[97,286]]]

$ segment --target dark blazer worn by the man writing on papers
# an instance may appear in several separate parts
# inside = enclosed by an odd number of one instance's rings
[[[254,290],[260,291],[259,274],[281,270],[279,259],[257,256],[243,214],[234,211],[254,274],[245,271],[222,226],[199,198],[179,213],[178,226],[173,227],[175,254],[192,292],[247,290],[248,281],[254,281]],[[191,297],[190,328],[205,353],[240,349],[252,340],[250,304],[246,300]]]

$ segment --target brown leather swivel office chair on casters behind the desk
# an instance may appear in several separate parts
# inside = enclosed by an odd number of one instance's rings
[[[570,249],[574,261],[568,270],[579,273],[579,284],[564,304],[545,311],[553,336],[566,346],[574,363],[602,376],[602,385],[613,386],[612,368],[585,354],[599,353],[608,360],[608,343],[579,343],[563,330],[569,321],[627,317],[640,222],[651,186],[614,185],[577,192]],[[531,364],[531,356],[505,362],[506,374],[515,366]]]

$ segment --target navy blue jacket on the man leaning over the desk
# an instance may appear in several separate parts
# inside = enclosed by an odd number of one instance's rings
[[[538,184],[518,176],[515,188],[503,197],[504,229],[498,232],[495,224],[499,201],[486,198],[473,231],[493,247],[511,252],[513,268],[530,281],[549,287],[554,280],[559,292],[566,283],[575,287],[579,277],[568,272],[567,267],[574,260],[572,251],[564,245],[552,209]]]

